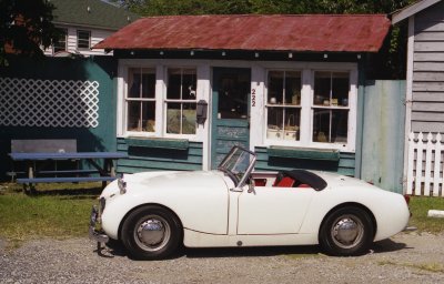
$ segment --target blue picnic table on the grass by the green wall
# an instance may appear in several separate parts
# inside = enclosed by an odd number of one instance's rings
[[[10,158],[14,162],[27,163],[27,178],[17,179],[18,183],[23,183],[24,186],[29,185],[33,190],[34,183],[51,183],[51,182],[95,182],[101,181],[102,186],[107,185],[107,182],[115,180],[115,166],[114,160],[128,158],[127,153],[122,152],[51,152],[51,153],[9,153]],[[47,170],[37,166],[39,161],[87,161],[95,170]],[[100,163],[98,160],[102,160]],[[78,166],[77,166],[78,168]],[[98,175],[84,176],[84,174],[97,173]],[[42,176],[50,175],[50,176]],[[58,176],[63,175],[63,176]],[[74,175],[74,176],[64,176]]]

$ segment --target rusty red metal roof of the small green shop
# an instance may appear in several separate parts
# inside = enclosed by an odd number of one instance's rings
[[[385,14],[150,17],[94,48],[376,52],[389,28]]]

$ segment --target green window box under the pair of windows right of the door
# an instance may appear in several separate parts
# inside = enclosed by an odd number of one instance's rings
[[[339,161],[340,151],[335,149],[270,146],[266,149],[269,156],[291,158],[302,160]]]

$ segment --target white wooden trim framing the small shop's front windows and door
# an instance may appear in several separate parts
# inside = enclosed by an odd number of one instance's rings
[[[127,110],[124,104],[124,95],[127,92],[127,73],[128,68],[155,68],[157,84],[157,116],[155,116],[155,133],[144,132],[128,132],[127,126]],[[337,62],[281,62],[281,61],[231,61],[231,60],[185,60],[185,59],[120,59],[119,60],[119,78],[118,78],[118,115],[117,115],[117,134],[119,138],[138,136],[138,138],[179,138],[189,139],[193,142],[203,142],[204,164],[209,168],[210,161],[210,138],[211,138],[211,70],[213,67],[232,67],[232,68],[251,68],[251,89],[256,92],[255,106],[251,108],[251,133],[250,149],[255,146],[283,145],[292,148],[315,148],[315,149],[337,149],[344,152],[355,152],[356,140],[356,111],[357,111],[357,63],[337,63]],[[168,68],[196,68],[198,85],[196,101],[205,100],[209,103],[208,119],[204,125],[196,126],[195,135],[178,135],[165,133],[165,103],[163,98],[167,95],[165,78]],[[301,128],[300,141],[276,141],[266,140],[265,125],[265,99],[266,99],[266,72],[268,70],[299,70],[302,72],[302,90],[301,105],[311,105],[313,98],[313,72],[314,71],[349,71],[350,72],[350,113],[349,113],[349,130],[347,144],[342,146],[334,143],[316,143],[311,142],[312,133],[312,108],[302,108],[301,125],[304,123],[309,128]],[[161,111],[159,111],[161,110]],[[310,120],[309,122],[306,120]],[[254,131],[253,131],[254,130]],[[304,132],[304,134],[303,134]],[[279,143],[281,142],[281,143]],[[206,169],[204,166],[204,169]]]

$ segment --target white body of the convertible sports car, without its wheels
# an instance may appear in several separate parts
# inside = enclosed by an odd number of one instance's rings
[[[275,187],[276,173],[248,172],[251,181],[261,181],[260,186],[236,185],[223,171],[125,174],[123,191],[122,181],[114,181],[100,195],[105,204],[101,229],[111,239],[122,239],[128,215],[147,205],[176,216],[188,247],[319,244],[323,222],[343,206],[367,212],[374,226],[372,241],[406,227],[410,211],[403,195],[354,178],[311,173],[326,186]]]

